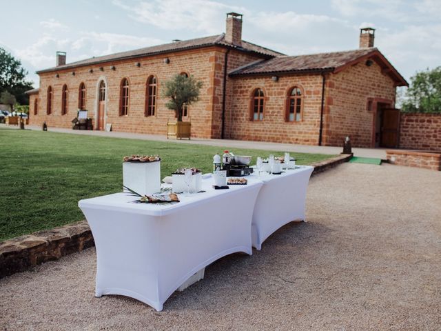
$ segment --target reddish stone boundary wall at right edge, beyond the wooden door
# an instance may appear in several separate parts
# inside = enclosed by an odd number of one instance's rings
[[[441,114],[402,113],[400,148],[441,152]]]

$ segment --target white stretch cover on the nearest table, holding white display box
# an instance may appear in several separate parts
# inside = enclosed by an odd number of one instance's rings
[[[79,201],[96,245],[96,297],[121,294],[156,310],[195,272],[234,252],[252,254],[251,222],[261,181],[184,197],[132,203],[127,193]]]

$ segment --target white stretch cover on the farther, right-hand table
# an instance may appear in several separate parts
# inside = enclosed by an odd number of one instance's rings
[[[296,220],[305,221],[306,192],[314,167],[283,170],[282,174],[260,172],[263,187],[254,205],[252,221],[253,247],[260,250],[262,243],[278,228]],[[257,170],[250,177],[257,178]]]

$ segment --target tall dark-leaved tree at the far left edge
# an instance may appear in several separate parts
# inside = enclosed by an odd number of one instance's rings
[[[8,91],[19,103],[29,103],[29,97],[24,92],[32,88],[32,83],[26,81],[27,74],[28,71],[21,66],[19,59],[0,48],[0,93]]]

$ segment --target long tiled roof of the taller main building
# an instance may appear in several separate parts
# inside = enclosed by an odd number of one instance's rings
[[[268,59],[271,57],[276,57],[283,55],[282,53],[276,52],[274,50],[269,50],[262,46],[255,45],[254,43],[249,43],[247,41],[242,41],[242,47],[233,45],[232,43],[227,43],[225,41],[225,34],[218,34],[216,36],[203,37],[197,39],[190,39],[185,41],[176,41],[174,43],[165,43],[163,45],[151,46],[146,48],[140,48],[138,50],[130,50],[127,52],[119,52],[115,54],[104,55],[102,57],[92,57],[90,59],[85,59],[81,61],[76,61],[72,63],[65,64],[63,66],[52,67],[45,70],[37,71],[37,74],[41,72],[51,72],[63,69],[76,68],[79,66],[89,66],[91,64],[99,64],[107,61],[121,60],[121,59],[133,59],[136,57],[144,57],[147,55],[154,54],[165,54],[168,52],[176,52],[181,50],[191,50],[194,48],[204,48],[210,46],[221,46],[227,48],[234,48],[243,52],[252,52],[254,54],[260,55],[261,57]]]

